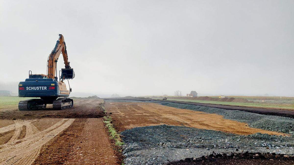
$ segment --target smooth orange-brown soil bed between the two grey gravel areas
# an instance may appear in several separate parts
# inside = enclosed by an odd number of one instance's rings
[[[224,119],[221,115],[177,109],[156,103],[107,102],[106,109],[112,113],[111,117],[118,131],[134,127],[168,124],[243,135],[257,132],[284,135],[280,132],[251,128],[246,123]]]

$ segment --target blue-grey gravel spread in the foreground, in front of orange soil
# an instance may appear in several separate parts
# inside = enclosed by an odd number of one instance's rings
[[[136,127],[121,132],[126,164],[165,164],[213,152],[294,154],[294,138],[268,134],[236,135],[180,126]]]

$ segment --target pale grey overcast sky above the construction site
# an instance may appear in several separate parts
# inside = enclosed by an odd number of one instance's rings
[[[74,92],[294,96],[293,0],[1,0],[0,21],[1,83],[46,74],[61,33]]]

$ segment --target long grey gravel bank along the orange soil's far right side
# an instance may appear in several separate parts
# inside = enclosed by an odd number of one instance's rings
[[[201,111],[206,113],[215,113],[224,116],[225,119],[248,123],[248,125],[253,128],[260,128],[270,131],[294,134],[294,119],[288,117],[260,115],[256,113],[250,113],[239,110],[224,110],[220,108],[203,107],[197,105],[179,104],[171,102],[151,102],[180,109]]]

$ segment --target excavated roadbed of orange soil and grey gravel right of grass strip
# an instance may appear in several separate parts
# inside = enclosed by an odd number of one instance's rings
[[[125,143],[125,164],[293,162],[291,118],[156,101],[105,106]]]

